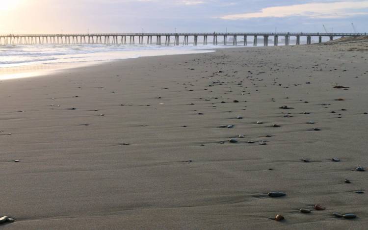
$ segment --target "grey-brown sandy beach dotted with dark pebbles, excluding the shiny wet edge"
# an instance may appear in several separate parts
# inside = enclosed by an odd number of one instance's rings
[[[16,218],[0,228],[367,229],[367,194],[356,193],[367,172],[355,168],[368,166],[368,53],[349,49],[363,43],[146,57],[0,82],[0,215]]]

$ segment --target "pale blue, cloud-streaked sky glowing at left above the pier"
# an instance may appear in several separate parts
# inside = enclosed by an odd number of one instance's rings
[[[0,0],[0,34],[368,32],[368,0]]]

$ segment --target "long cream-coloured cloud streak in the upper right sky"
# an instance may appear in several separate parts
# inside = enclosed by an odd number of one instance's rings
[[[225,20],[291,16],[309,18],[346,18],[368,14],[368,0],[338,1],[328,3],[305,3],[287,6],[274,6],[261,9],[259,12],[231,14],[220,17]]]

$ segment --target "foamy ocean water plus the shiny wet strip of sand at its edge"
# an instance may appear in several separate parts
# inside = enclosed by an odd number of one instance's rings
[[[49,75],[96,63],[189,53],[213,52],[222,46],[156,45],[0,45],[0,80]]]

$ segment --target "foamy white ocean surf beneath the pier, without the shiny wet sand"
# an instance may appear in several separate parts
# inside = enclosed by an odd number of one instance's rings
[[[0,68],[34,64],[79,63],[141,56],[208,52],[221,46],[156,45],[6,45],[0,46]],[[203,51],[207,50],[207,51]]]

